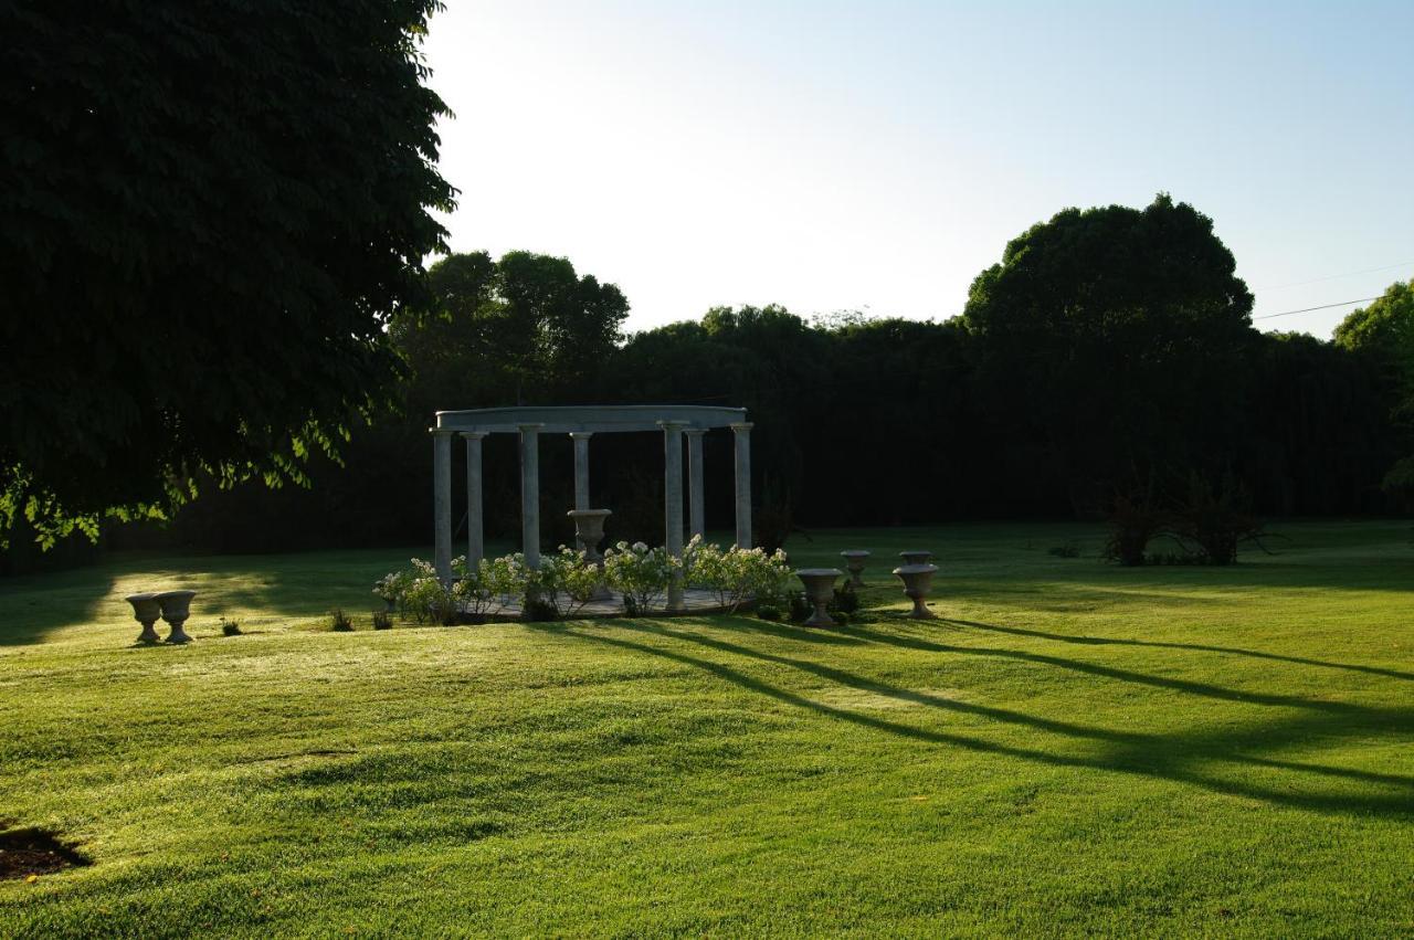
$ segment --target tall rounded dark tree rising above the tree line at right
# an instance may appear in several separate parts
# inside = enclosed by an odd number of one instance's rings
[[[1212,219],[1162,194],[1014,239],[963,315],[1004,445],[1079,510],[1227,458],[1253,336],[1234,267]]]

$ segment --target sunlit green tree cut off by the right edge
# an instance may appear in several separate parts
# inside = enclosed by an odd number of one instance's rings
[[[1406,433],[1414,428],[1414,280],[1396,281],[1369,307],[1352,311],[1336,327],[1335,342],[1379,366],[1394,397],[1391,417]],[[1414,455],[1394,464],[1384,486],[1414,493]]]

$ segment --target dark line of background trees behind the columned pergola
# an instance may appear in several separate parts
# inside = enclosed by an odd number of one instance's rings
[[[771,543],[810,526],[1103,517],[1121,498],[1182,499],[1195,479],[1236,482],[1264,515],[1407,509],[1408,287],[1333,341],[1260,332],[1212,222],[1165,195],[1034,226],[942,322],[721,307],[625,336],[617,287],[525,252],[452,254],[427,286],[434,300],[390,327],[399,407],[339,462],[311,458],[308,489],[215,492],[117,544],[424,543],[433,413],[516,403],[748,409]],[[485,450],[488,530],[515,539],[516,445]],[[611,536],[662,541],[659,435],[600,435],[591,462]],[[708,524],[725,529],[730,435],[707,437],[706,465]],[[571,466],[570,441],[544,438],[551,539],[571,537]]]

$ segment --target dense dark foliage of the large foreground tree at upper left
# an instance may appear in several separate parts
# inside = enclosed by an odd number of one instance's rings
[[[437,6],[0,7],[0,523],[298,478],[396,390],[385,328],[454,195]]]

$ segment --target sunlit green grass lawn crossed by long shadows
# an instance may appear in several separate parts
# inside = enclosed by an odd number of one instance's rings
[[[1408,524],[1275,529],[1229,570],[816,533],[795,561],[875,551],[836,630],[373,632],[406,551],[0,581],[0,830],[93,862],[0,881],[0,936],[1407,937]],[[901,616],[908,547],[943,619]],[[198,642],[130,646],[148,585],[201,591]]]

